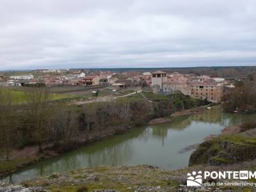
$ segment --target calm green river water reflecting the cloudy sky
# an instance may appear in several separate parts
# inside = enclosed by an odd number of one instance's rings
[[[152,164],[175,170],[188,166],[193,150],[180,150],[204,141],[210,134],[219,134],[229,124],[255,118],[255,115],[223,113],[220,106],[207,109],[204,114],[175,118],[172,124],[136,127],[125,134],[106,138],[60,157],[35,163],[3,178],[6,182],[67,173],[70,170],[100,165]]]

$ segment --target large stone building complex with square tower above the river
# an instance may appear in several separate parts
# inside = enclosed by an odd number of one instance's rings
[[[178,72],[152,72],[153,92],[182,92],[196,99],[221,102],[225,79],[209,76],[184,75]]]

